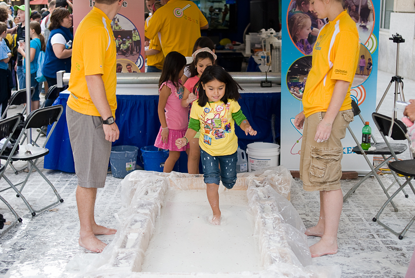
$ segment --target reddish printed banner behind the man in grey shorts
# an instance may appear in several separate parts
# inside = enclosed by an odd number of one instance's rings
[[[94,0],[73,0],[74,33],[94,5]],[[144,72],[144,0],[123,1],[111,27],[117,45],[117,72]]]

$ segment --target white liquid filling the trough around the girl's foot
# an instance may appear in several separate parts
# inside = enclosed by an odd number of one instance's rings
[[[222,221],[216,226],[208,222],[212,210],[206,191],[169,190],[142,271],[261,270],[246,191],[225,191],[219,195],[219,204]]]

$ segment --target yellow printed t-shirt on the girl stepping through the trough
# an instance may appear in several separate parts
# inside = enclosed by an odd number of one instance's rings
[[[192,104],[190,117],[200,122],[199,146],[211,156],[232,155],[238,149],[235,120],[232,113],[241,110],[236,101]]]

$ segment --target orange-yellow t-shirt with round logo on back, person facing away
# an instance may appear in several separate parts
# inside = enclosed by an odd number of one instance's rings
[[[199,8],[191,1],[170,0],[154,13],[145,36],[154,38],[160,32],[164,56],[177,51],[192,56],[193,46],[200,37],[200,27],[208,22]]]

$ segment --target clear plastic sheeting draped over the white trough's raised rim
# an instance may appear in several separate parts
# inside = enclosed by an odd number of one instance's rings
[[[122,181],[121,223],[114,240],[101,254],[84,254],[67,265],[74,277],[295,277],[340,278],[338,266],[314,266],[305,226],[287,200],[292,177],[284,167],[238,174],[233,190],[246,190],[247,210],[254,216],[261,254],[260,272],[144,273],[141,266],[167,190],[205,189],[202,175],[134,171]]]

